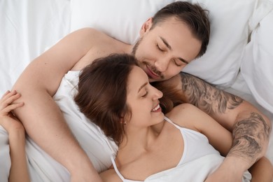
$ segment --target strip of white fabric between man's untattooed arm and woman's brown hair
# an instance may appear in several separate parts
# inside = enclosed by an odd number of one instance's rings
[[[78,111],[73,97],[76,93],[79,73],[80,71],[66,73],[53,98],[80,146],[87,153],[97,171],[102,172],[111,166],[110,156],[116,154],[118,147],[113,141],[106,138],[97,125],[91,123],[83,113]]]

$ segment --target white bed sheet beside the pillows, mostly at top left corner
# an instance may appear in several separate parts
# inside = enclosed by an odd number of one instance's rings
[[[69,0],[0,1],[0,95],[11,89],[32,59],[69,33],[70,17]],[[250,101],[273,120],[273,113],[255,102],[240,75],[228,91]],[[1,142],[7,141],[0,138]],[[8,149],[0,148],[0,158],[4,150]],[[272,134],[267,157],[273,162]]]

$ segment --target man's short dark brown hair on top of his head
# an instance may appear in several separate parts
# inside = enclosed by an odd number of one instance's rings
[[[200,57],[206,52],[209,43],[210,23],[207,14],[208,11],[198,4],[176,1],[169,3],[159,10],[158,13],[155,13],[151,29],[159,23],[167,21],[170,17],[184,22],[192,31],[193,36],[202,42],[200,52],[197,55],[197,57]]]

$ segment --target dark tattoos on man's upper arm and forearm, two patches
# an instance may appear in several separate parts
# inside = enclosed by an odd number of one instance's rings
[[[187,102],[209,115],[225,113],[227,109],[235,109],[243,102],[240,97],[218,90],[214,85],[188,73],[181,72],[180,76]],[[233,126],[232,148],[228,156],[244,158],[253,164],[265,150],[271,127],[259,113],[248,113],[243,118]]]

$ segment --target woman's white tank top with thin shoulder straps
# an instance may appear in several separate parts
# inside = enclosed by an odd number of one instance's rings
[[[220,153],[216,151],[216,149],[209,144],[209,140],[204,134],[201,134],[200,132],[196,132],[195,130],[190,130],[184,127],[180,127],[179,125],[176,125],[172,122],[172,120],[169,120],[169,118],[165,117],[165,120],[167,120],[169,123],[172,123],[177,129],[180,130],[183,141],[184,141],[184,151],[183,155],[181,156],[181,160],[179,161],[179,165],[183,165],[186,162],[190,162],[192,160],[195,160],[197,158],[201,158],[204,155],[210,155],[210,154],[218,154]],[[142,182],[142,181],[134,181],[130,179],[125,179],[122,174],[118,171],[118,167],[116,166],[116,162],[113,159],[113,156],[111,157],[113,167],[116,171],[116,174],[120,177],[120,179],[123,182]],[[177,167],[176,166],[176,167]],[[183,175],[183,174],[181,174]]]

